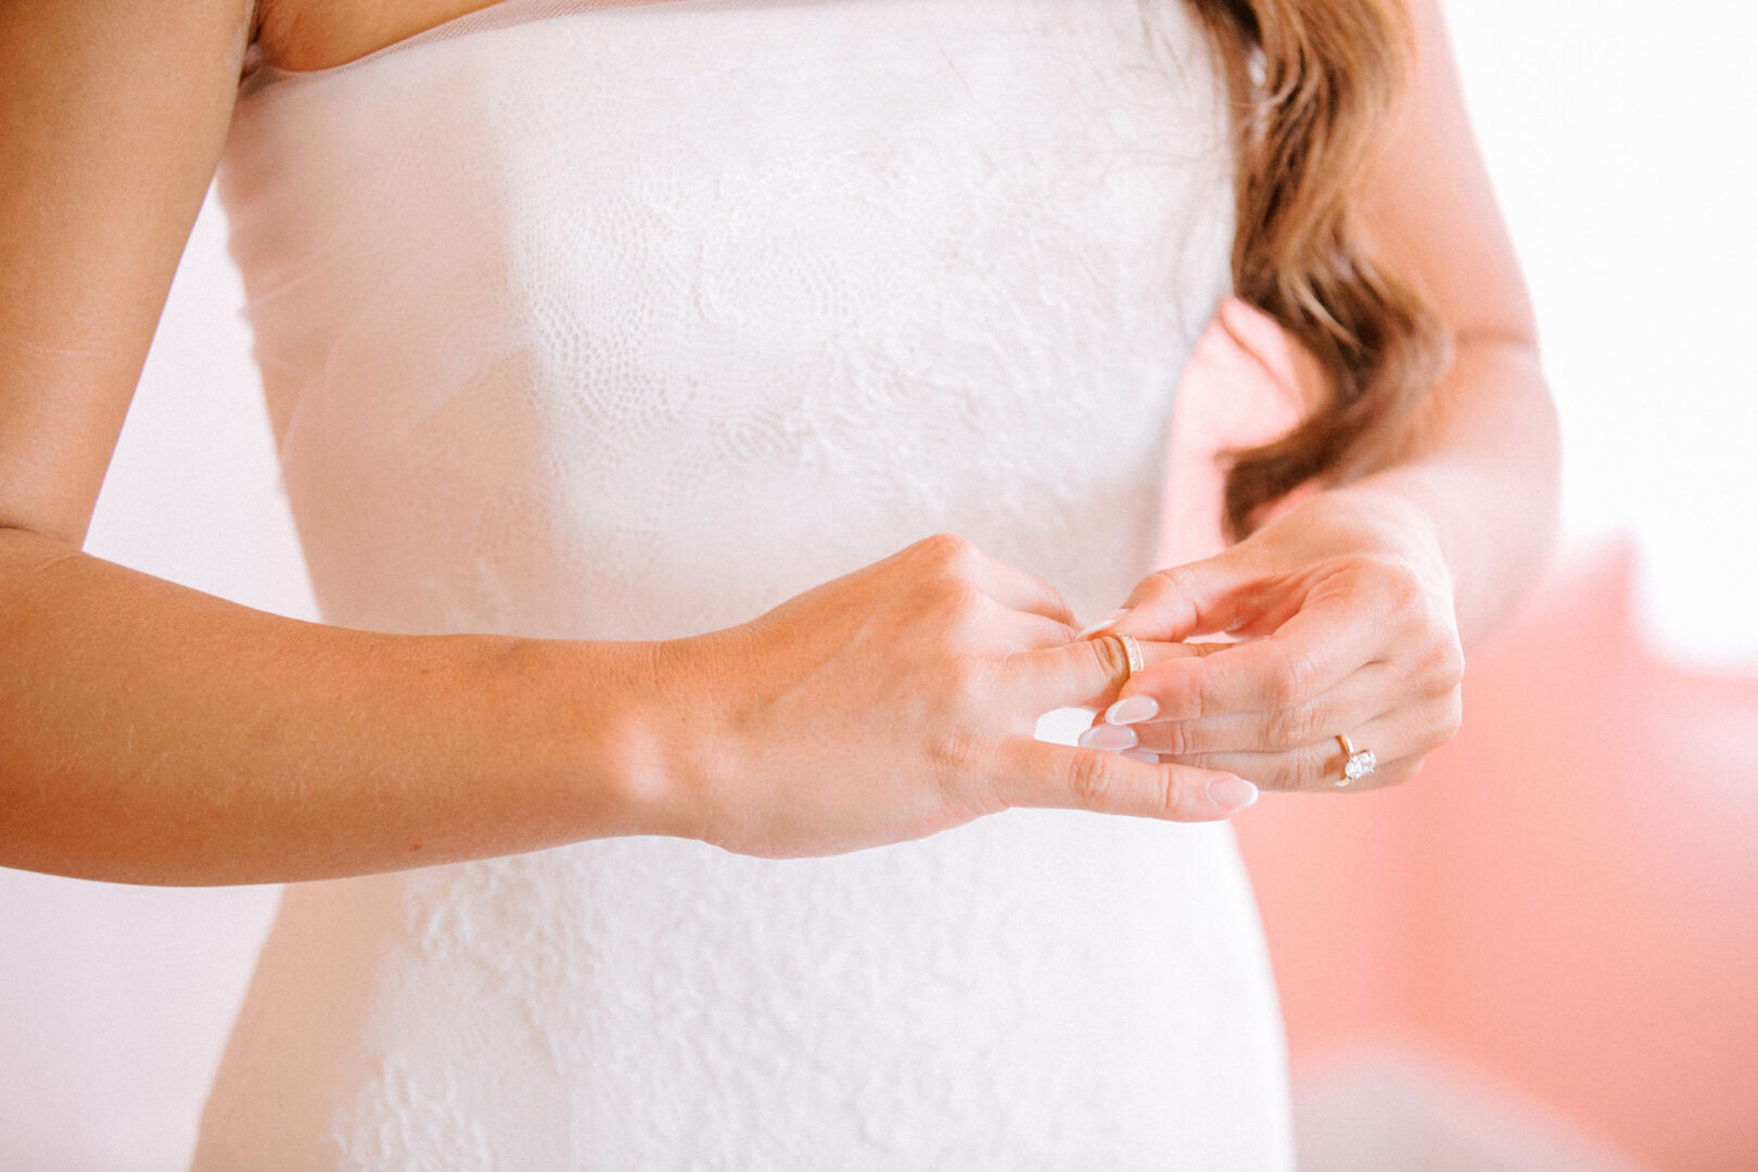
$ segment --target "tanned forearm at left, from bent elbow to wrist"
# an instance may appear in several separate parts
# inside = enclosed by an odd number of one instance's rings
[[[299,622],[0,529],[0,865],[281,882],[663,833],[652,647]]]

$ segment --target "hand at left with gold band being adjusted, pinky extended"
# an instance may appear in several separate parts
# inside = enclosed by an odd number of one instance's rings
[[[1231,773],[1034,736],[1127,678],[1050,583],[937,534],[752,622],[656,645],[668,829],[735,854],[823,856],[1007,807],[1181,822],[1248,803]]]

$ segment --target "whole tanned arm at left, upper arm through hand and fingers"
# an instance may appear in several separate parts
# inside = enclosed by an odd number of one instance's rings
[[[955,539],[661,643],[350,631],[83,553],[250,9],[0,0],[0,865],[281,882],[636,833],[830,854],[1007,805],[1231,812],[1215,775],[1030,740],[1115,691],[1115,641]]]

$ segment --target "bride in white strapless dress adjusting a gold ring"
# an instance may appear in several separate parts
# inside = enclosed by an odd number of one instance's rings
[[[1290,1167],[1227,819],[1556,513],[1433,0],[35,0],[0,100],[0,865],[290,884],[197,1167]],[[322,624],[81,552],[216,176]],[[1306,413],[1157,566],[1204,329]]]

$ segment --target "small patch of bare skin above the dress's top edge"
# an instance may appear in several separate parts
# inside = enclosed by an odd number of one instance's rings
[[[257,47],[281,69],[329,69],[494,0],[257,0]]]

